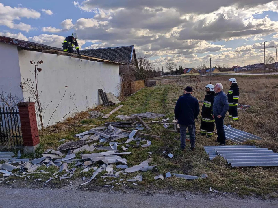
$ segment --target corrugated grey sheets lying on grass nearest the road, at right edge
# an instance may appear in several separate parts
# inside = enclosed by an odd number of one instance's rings
[[[220,155],[232,167],[278,166],[278,153],[251,145],[204,146],[210,160]]]

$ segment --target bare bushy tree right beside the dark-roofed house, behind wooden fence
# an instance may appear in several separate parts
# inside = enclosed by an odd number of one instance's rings
[[[138,59],[138,66],[139,68],[135,68],[136,77],[138,79],[144,79],[145,83],[147,82],[147,78],[149,74],[152,72],[154,68],[153,64],[146,56],[140,56]]]

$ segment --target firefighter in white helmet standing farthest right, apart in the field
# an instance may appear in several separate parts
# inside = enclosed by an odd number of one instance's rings
[[[229,118],[233,121],[238,121],[238,98],[239,90],[236,78],[229,79],[230,89],[227,94],[229,102]]]

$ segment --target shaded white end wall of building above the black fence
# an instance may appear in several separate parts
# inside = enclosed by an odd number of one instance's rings
[[[17,46],[0,42],[0,93],[23,100]]]

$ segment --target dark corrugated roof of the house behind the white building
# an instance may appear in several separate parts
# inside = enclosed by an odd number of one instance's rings
[[[92,56],[102,57],[105,59],[130,64],[132,60],[132,54],[134,52],[134,46],[131,45],[110,48],[85,49],[81,50],[81,52]]]

